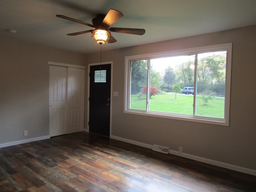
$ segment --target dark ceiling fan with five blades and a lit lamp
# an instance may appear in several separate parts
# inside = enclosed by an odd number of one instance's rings
[[[106,15],[98,14],[96,18],[92,19],[92,24],[89,24],[80,20],[76,20],[64,15],[56,15],[56,16],[62,19],[70,20],[73,22],[77,22],[77,23],[95,28],[92,30],[80,31],[80,32],[70,33],[67,35],[74,36],[74,35],[80,35],[80,34],[91,32],[93,40],[95,40],[98,44],[104,44],[106,41],[108,43],[116,42],[117,40],[111,35],[111,32],[134,34],[134,35],[143,35],[146,32],[144,29],[110,27],[110,25],[112,25],[114,22],[116,22],[118,19],[124,16],[121,12],[114,9],[110,9]]]

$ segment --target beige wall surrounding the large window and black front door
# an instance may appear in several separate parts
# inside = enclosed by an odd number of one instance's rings
[[[113,91],[118,91],[112,99],[112,135],[174,151],[182,146],[186,154],[256,170],[255,34],[256,26],[251,26],[103,52],[103,62],[113,61]],[[229,42],[233,43],[230,126],[124,114],[125,56]],[[98,56],[88,54],[86,63],[98,62]]]

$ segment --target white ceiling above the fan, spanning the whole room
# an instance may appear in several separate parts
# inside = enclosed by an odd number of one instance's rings
[[[66,35],[93,28],[55,15],[92,24],[92,18],[110,9],[124,14],[111,27],[144,28],[146,34],[112,32],[117,42],[102,45],[102,50],[256,25],[256,0],[0,0],[0,37],[98,52],[100,46],[90,33]]]

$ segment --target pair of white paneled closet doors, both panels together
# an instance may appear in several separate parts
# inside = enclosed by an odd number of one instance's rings
[[[50,136],[84,130],[84,69],[50,65]]]

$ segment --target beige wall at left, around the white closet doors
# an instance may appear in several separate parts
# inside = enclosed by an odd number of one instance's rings
[[[85,56],[0,38],[0,144],[49,135],[48,61],[84,66]]]

